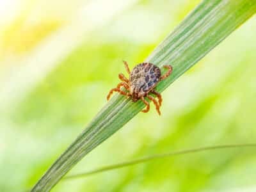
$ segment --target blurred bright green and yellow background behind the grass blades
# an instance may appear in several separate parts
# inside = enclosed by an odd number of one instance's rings
[[[200,1],[0,1],[0,191],[29,189],[106,95]],[[256,138],[256,18],[68,174]],[[169,64],[169,63],[166,63]],[[172,64],[172,63],[170,63]],[[63,180],[52,191],[256,191],[254,148],[176,156]]]

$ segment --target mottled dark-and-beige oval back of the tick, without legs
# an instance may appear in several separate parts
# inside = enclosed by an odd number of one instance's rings
[[[161,70],[152,63],[140,63],[133,68],[129,79],[131,93],[147,94],[159,82]]]

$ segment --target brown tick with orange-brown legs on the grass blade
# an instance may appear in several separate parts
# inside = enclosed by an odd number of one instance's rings
[[[161,76],[160,68],[152,63],[140,63],[133,68],[132,72],[130,71],[126,61],[124,61],[124,65],[129,74],[129,79],[127,79],[124,74],[119,74],[118,77],[122,82],[118,83],[116,88],[110,90],[107,99],[109,100],[113,92],[119,92],[122,95],[126,95],[126,97],[131,97],[133,102],[137,102],[137,100],[141,99],[147,106],[146,109],[143,109],[141,112],[147,113],[150,106],[147,100],[145,100],[145,97],[148,97],[148,99],[154,102],[157,113],[161,115],[159,108],[162,104],[162,97],[160,93],[154,90],[154,88],[156,88],[157,83],[170,76],[172,73],[172,66],[164,65],[164,68],[168,68],[168,72]],[[127,92],[120,89],[122,86],[124,86]],[[158,103],[154,97],[148,95],[149,93],[156,95]]]

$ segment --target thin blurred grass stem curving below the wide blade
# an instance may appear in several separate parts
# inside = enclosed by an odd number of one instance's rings
[[[156,159],[163,159],[166,157],[172,157],[172,156],[177,156],[177,155],[184,155],[184,154],[191,154],[195,152],[205,152],[208,150],[217,150],[217,149],[228,149],[228,148],[244,148],[244,147],[256,147],[256,143],[248,143],[248,144],[233,144],[233,145],[216,145],[216,146],[211,146],[211,147],[200,147],[200,148],[192,148],[192,149],[187,149],[187,150],[179,150],[177,152],[169,152],[166,154],[157,154],[154,156],[148,156],[148,157],[143,157],[140,159],[134,159],[132,161],[125,161],[123,163],[117,163],[117,164],[111,164],[109,166],[102,166],[101,168],[97,168],[95,170],[89,171],[89,172],[84,172],[84,173],[77,173],[74,175],[68,175],[67,177],[64,177],[63,179],[78,179],[81,177],[87,177],[90,175],[94,175],[96,173],[102,173],[102,172],[107,172],[111,170],[116,170],[119,168],[124,168],[126,166],[132,166],[135,164],[140,164],[140,163],[146,163],[147,161],[152,161]]]

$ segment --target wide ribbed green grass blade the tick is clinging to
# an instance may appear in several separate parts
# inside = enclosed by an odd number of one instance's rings
[[[202,1],[147,58],[146,61],[159,67],[166,64],[173,66],[173,74],[159,83],[157,90],[163,92],[255,12],[256,0]],[[38,180],[32,191],[52,189],[88,152],[123,127],[143,108],[142,102],[134,103],[115,95]]]

